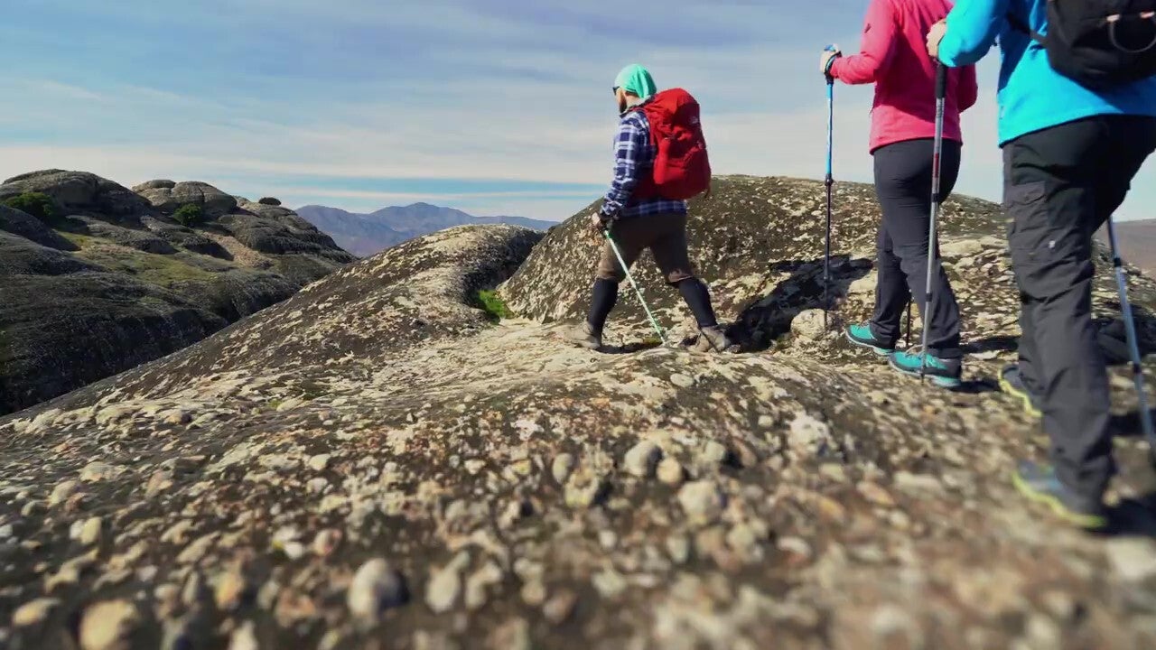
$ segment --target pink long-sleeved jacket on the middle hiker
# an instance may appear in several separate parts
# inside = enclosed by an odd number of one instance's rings
[[[874,83],[870,150],[935,135],[935,62],[927,32],[951,10],[948,0],[870,0],[860,53],[831,66],[844,83]],[[976,67],[948,69],[943,138],[963,142],[959,113],[976,103]]]

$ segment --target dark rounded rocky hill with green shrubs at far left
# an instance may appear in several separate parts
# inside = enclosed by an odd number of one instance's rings
[[[3,206],[29,195],[46,197],[47,214]],[[354,259],[274,204],[77,171],[6,180],[0,414],[194,344]]]

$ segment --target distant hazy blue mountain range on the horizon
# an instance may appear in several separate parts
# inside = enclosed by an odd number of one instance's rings
[[[298,208],[297,214],[357,257],[369,257],[408,239],[454,226],[509,223],[535,230],[557,226],[553,221],[523,216],[474,216],[460,209],[429,204],[387,207],[369,214],[326,206],[305,206]]]

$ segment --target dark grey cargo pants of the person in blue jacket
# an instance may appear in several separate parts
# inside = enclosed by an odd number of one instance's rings
[[[1003,147],[1003,207],[1020,289],[1020,370],[1040,396],[1060,481],[1101,504],[1116,471],[1109,381],[1091,320],[1092,235],[1156,149],[1156,118],[1097,116]]]

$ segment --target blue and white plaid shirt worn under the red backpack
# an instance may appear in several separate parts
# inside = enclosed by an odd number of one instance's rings
[[[622,116],[614,138],[614,182],[606,193],[601,215],[606,219],[630,219],[651,214],[687,214],[686,201],[662,198],[636,199],[638,182],[651,175],[658,149],[651,143],[650,121],[643,111]]]

